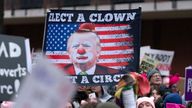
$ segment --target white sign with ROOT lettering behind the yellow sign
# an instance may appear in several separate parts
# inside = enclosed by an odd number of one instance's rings
[[[174,56],[174,51],[165,51],[165,50],[157,50],[157,49],[147,49],[146,52],[142,51],[150,58],[158,61],[158,65],[156,68],[159,69],[161,75],[169,76],[169,71],[171,69],[171,63]]]

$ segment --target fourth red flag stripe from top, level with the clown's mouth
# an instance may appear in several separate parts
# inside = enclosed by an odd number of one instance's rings
[[[132,54],[113,54],[113,55],[100,55],[99,59],[112,59],[112,58],[131,58]]]

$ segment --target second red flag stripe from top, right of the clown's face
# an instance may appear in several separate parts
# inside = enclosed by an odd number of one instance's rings
[[[101,43],[110,43],[110,42],[126,42],[133,41],[133,38],[118,38],[118,39],[101,39]]]

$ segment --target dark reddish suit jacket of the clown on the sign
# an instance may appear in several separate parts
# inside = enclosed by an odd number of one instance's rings
[[[76,75],[75,68],[74,68],[73,64],[66,65],[64,67],[64,70],[69,75]],[[95,69],[94,74],[116,74],[116,73],[120,73],[120,72],[121,72],[120,70],[112,69],[109,67],[105,67],[105,66],[101,66],[101,65],[96,64],[96,69]]]

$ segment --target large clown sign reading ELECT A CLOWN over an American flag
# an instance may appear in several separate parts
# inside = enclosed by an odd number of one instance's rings
[[[126,72],[138,72],[140,17],[140,8],[51,10],[43,52],[74,83],[115,84]]]

